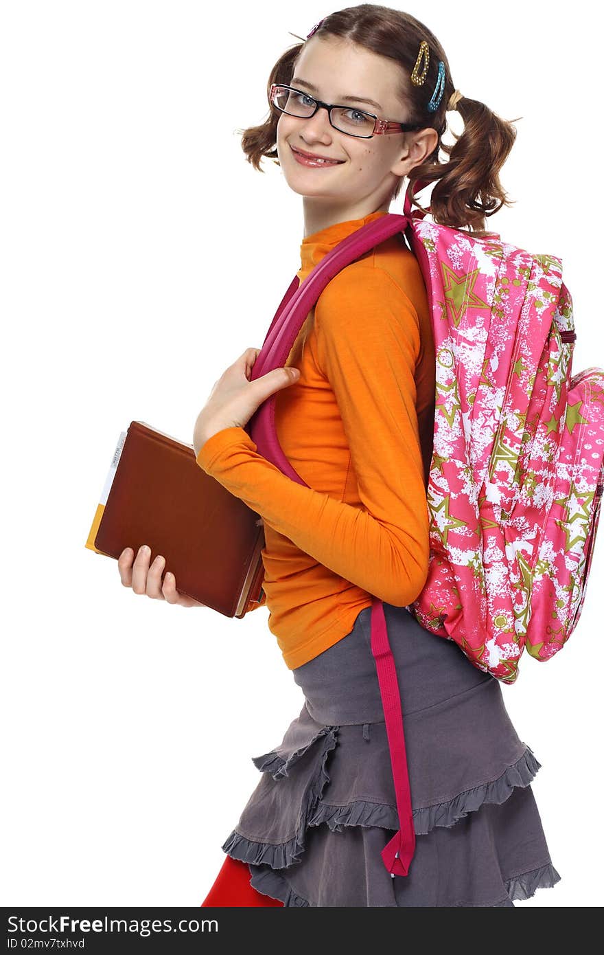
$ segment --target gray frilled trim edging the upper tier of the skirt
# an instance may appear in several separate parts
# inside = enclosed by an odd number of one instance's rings
[[[296,835],[286,842],[269,843],[255,842],[240,835],[234,829],[222,845],[222,850],[243,862],[254,865],[270,865],[273,869],[284,869],[295,862],[304,851],[304,836],[308,826],[319,826],[326,823],[334,832],[341,832],[343,826],[381,826],[396,832],[399,829],[399,816],[396,806],[386,803],[356,800],[344,806],[332,806],[321,801],[325,784],[329,781],[329,774],[325,770],[328,753],[337,744],[337,727],[323,727],[313,739],[288,759],[272,751],[263,756],[254,757],[254,763],[262,772],[270,773],[274,779],[288,775],[292,763],[299,759],[317,739],[323,736],[319,773],[312,780],[308,794],[302,807],[299,826]],[[541,763],[527,746],[526,750],[515,763],[508,766],[502,775],[489,782],[448,799],[446,802],[432,806],[420,807],[413,810],[413,828],[416,835],[426,836],[435,826],[450,828],[459,819],[475,812],[485,802],[500,804],[510,796],[516,786],[528,786]]]

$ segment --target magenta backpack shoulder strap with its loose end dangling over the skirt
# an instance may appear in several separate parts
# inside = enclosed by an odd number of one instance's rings
[[[312,269],[302,284],[298,276],[292,280],[281,300],[271,326],[266,334],[260,353],[252,369],[252,380],[281,368],[302,324],[313,308],[327,283],[342,269],[358,259],[364,252],[384,242],[396,232],[404,232],[406,216],[387,213],[381,219],[366,223],[352,235],[331,249],[318,265]],[[297,471],[283,454],[275,427],[275,394],[262,402],[252,415],[246,430],[255,442],[260,455],[271,461],[281,472],[299,484],[308,487]],[[373,597],[371,607],[371,652],[377,669],[382,707],[385,716],[385,729],[390,752],[390,763],[396,793],[396,805],[399,816],[399,831],[390,839],[382,851],[385,867],[394,876],[406,876],[409,863],[415,851],[415,830],[408,770],[406,765],[405,730],[401,693],[394,664],[394,658],[388,642],[385,625],[384,605]]]

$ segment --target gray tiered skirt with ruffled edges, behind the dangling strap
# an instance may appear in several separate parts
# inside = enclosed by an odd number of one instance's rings
[[[452,641],[384,603],[405,728],[415,853],[391,876],[399,829],[371,607],[333,647],[291,670],[304,705],[222,849],[285,906],[513,906],[560,880],[501,684]]]

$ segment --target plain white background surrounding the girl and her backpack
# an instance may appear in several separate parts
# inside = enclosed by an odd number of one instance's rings
[[[462,93],[523,117],[502,172],[516,204],[488,227],[562,258],[573,371],[604,366],[594,8],[404,9]],[[302,707],[265,608],[237,621],[136,596],[84,542],[120,431],[142,419],[191,442],[300,265],[302,200],[245,161],[236,129],[266,117],[289,31],[327,12],[2,5],[5,905],[199,905],[258,782],[251,756]],[[563,652],[525,655],[503,687],[562,876],[518,906],[602,901],[603,570],[604,538]]]

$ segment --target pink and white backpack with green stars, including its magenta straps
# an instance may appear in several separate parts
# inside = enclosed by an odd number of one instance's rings
[[[420,188],[424,183],[420,184]],[[422,269],[436,355],[434,446],[427,486],[430,559],[408,606],[469,661],[513,683],[524,647],[544,661],[576,626],[590,573],[604,486],[604,370],[571,377],[575,332],[562,264],[388,213],[295,276],[254,365],[283,366],[324,286],[345,265],[403,232]],[[260,454],[305,484],[284,456],[275,395],[250,419]],[[415,849],[401,698],[382,601],[374,597],[375,658],[401,829],[382,852],[407,875]]]

